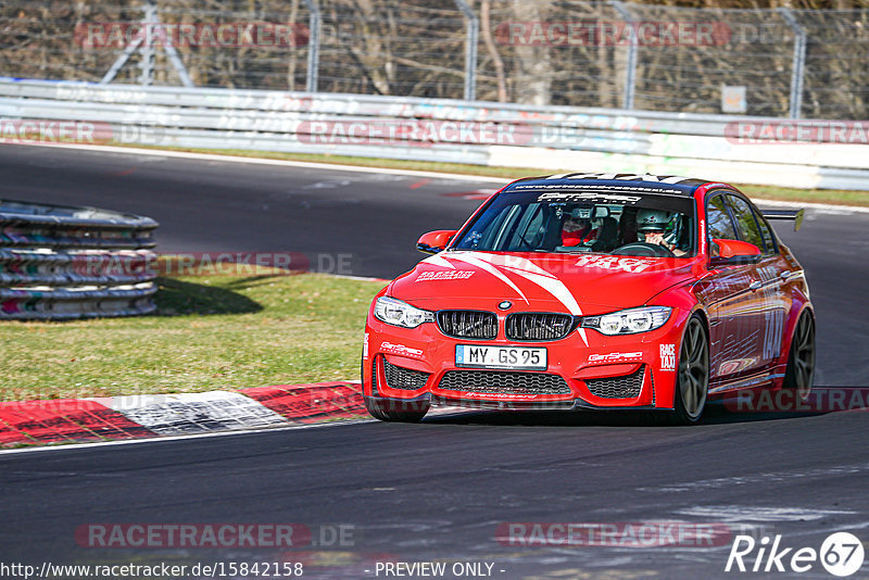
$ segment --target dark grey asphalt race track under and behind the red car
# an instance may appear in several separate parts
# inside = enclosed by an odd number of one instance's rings
[[[358,276],[413,265],[419,232],[458,226],[491,184],[33,147],[0,148],[0,198],[149,215],[160,250],[349,254]],[[819,384],[867,386],[869,217],[810,211],[780,228],[818,314]],[[329,269],[329,261],[324,264]],[[0,455],[0,560],[274,562],[376,578],[375,562],[493,563],[495,578],[729,578],[719,546],[505,545],[504,522],[718,524],[783,546],[869,540],[865,412],[733,414],[694,428],[631,414],[461,414]],[[87,522],[352,526],[344,545],[104,550]],[[753,554],[756,555],[756,552]],[[369,570],[369,571],[366,571]],[[503,570],[503,571],[501,571]],[[867,567],[853,578],[866,577]],[[790,577],[779,573],[772,577]],[[451,576],[448,576],[451,577]],[[816,564],[803,578],[831,578]],[[383,578],[382,572],[379,578]]]

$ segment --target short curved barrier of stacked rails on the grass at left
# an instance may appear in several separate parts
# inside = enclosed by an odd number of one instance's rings
[[[0,200],[0,320],[154,312],[156,222]]]

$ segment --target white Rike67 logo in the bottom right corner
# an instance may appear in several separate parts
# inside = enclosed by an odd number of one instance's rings
[[[835,532],[827,537],[820,550],[794,549],[782,546],[781,534],[771,541],[764,537],[759,542],[740,534],[733,539],[725,571],[805,573],[819,562],[833,576],[851,576],[862,566],[862,543],[853,533]]]

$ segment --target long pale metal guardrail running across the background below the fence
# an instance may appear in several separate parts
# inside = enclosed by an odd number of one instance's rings
[[[91,123],[91,142],[869,190],[869,125],[859,123],[10,78],[0,78],[0,117]],[[27,140],[16,131],[0,138]]]

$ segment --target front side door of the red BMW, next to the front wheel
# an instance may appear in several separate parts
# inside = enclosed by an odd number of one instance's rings
[[[713,193],[707,198],[705,216],[710,256],[717,255],[713,239],[740,239],[726,193]],[[750,290],[755,276],[753,264],[718,267],[694,287],[709,316],[709,380],[713,382],[751,374],[757,368],[755,353],[759,331],[752,310],[754,295]]]

